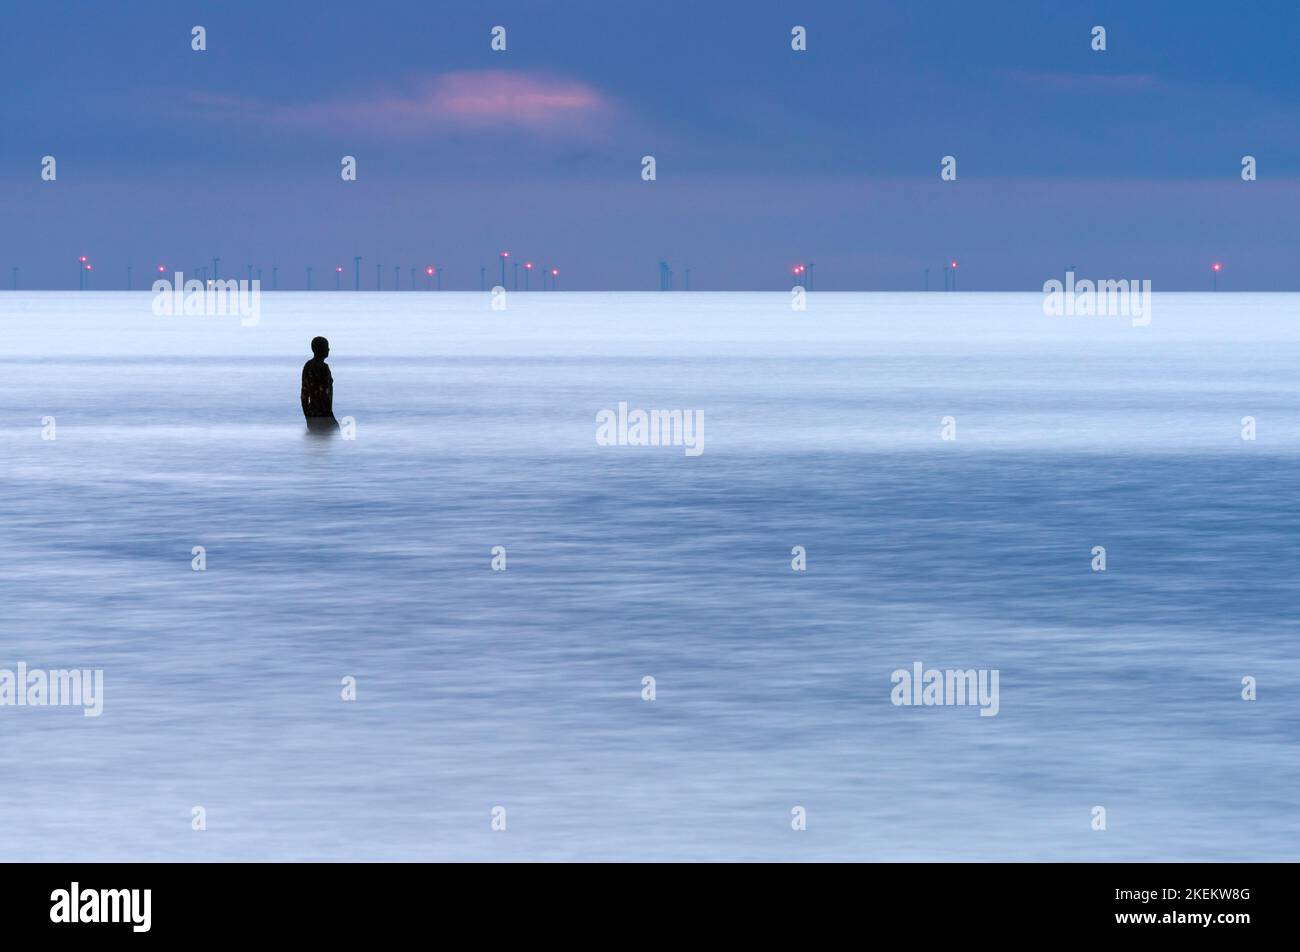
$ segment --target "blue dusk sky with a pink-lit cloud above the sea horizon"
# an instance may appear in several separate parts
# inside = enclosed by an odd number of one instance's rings
[[[4,5],[0,287],[1300,289],[1294,0]]]

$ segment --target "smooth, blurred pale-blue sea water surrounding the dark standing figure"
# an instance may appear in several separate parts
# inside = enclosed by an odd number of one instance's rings
[[[1300,856],[1296,295],[263,308],[0,295],[0,667],[105,672],[0,707],[5,860]],[[619,401],[703,455],[597,446]]]

